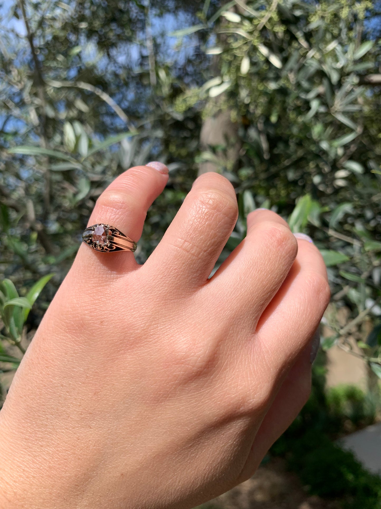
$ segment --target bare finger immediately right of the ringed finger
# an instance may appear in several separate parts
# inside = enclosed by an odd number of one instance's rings
[[[144,268],[173,290],[199,288],[206,283],[237,216],[232,184],[216,173],[202,175]]]

